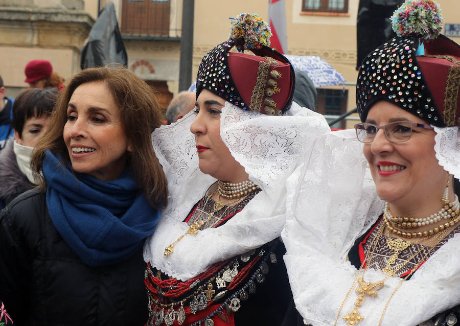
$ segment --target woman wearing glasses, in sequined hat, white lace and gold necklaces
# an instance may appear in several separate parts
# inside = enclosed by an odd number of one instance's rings
[[[409,1],[394,21],[424,8],[435,22],[434,6]],[[386,42],[360,66],[355,139],[349,131],[318,138],[288,181],[296,188],[282,233],[285,262],[306,323],[460,318],[460,46],[425,35],[417,56],[412,36]]]

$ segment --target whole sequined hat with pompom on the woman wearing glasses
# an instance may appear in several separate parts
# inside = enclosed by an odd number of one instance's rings
[[[407,0],[393,17],[398,37],[362,62],[356,84],[361,121],[372,105],[393,103],[436,127],[460,125],[460,46],[444,35],[432,0]],[[424,46],[425,55],[416,55]]]

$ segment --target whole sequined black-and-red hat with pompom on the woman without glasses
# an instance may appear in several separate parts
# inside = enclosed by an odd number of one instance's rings
[[[294,70],[281,53],[269,48],[270,27],[256,14],[231,20],[229,40],[203,57],[196,96],[208,89],[225,101],[270,115],[286,112],[292,103]],[[233,47],[241,53],[229,52]],[[250,50],[254,55],[244,54]]]

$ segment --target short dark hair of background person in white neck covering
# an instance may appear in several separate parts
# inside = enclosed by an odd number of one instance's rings
[[[13,103],[12,126],[22,137],[22,128],[30,118],[39,118],[43,114],[50,116],[60,92],[56,88],[27,89],[19,94]]]

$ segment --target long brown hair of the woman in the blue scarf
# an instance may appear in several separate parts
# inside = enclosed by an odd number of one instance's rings
[[[162,112],[153,90],[120,65],[84,69],[72,77],[51,115],[47,133],[40,139],[32,155],[32,170],[37,174],[42,171],[47,150],[60,156],[63,162],[70,162],[62,137],[67,122],[67,105],[75,89],[90,82],[103,82],[110,89],[120,109],[123,130],[132,147],[128,165],[132,168],[134,179],[141,185],[150,204],[155,208],[163,208],[167,204],[168,183],[153,151],[150,137],[152,131],[162,124]],[[43,179],[41,185],[45,186]]]

